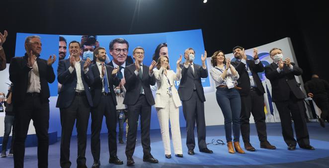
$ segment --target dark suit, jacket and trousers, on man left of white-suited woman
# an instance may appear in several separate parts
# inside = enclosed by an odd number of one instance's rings
[[[153,94],[150,85],[156,84],[156,78],[152,74],[149,75],[149,67],[146,65],[143,68],[142,79],[135,74],[135,64],[126,66],[126,96],[123,104],[128,106],[128,136],[126,146],[126,156],[131,158],[135,151],[136,136],[137,136],[137,122],[139,115],[141,115],[141,139],[143,146],[144,157],[151,155],[150,142],[150,123],[151,123],[151,107],[155,105]],[[141,94],[141,88],[144,89],[144,94]]]

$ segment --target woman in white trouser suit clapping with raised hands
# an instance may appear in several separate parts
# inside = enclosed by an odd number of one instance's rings
[[[154,75],[157,79],[158,89],[156,92],[156,109],[161,128],[162,141],[164,142],[165,158],[171,158],[170,137],[169,137],[169,120],[171,125],[171,136],[173,150],[176,157],[183,157],[180,127],[179,127],[179,106],[181,102],[178,96],[174,81],[179,81],[181,78],[181,69],[179,63],[182,56],[177,60],[177,71],[169,70],[169,59],[167,56],[161,56],[157,62],[157,69],[154,70]]]

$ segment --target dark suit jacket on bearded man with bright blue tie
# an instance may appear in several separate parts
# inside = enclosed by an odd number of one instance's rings
[[[119,85],[120,80],[116,77],[116,75],[111,75],[112,71],[114,69],[112,66],[105,65],[105,67],[106,67],[106,73],[107,73],[107,83],[108,83],[109,90],[110,90],[112,100],[113,100],[112,103],[116,106],[117,105],[116,94],[114,92],[113,85],[114,86]],[[91,70],[91,73],[93,76],[93,82],[90,86],[92,103],[93,103],[93,106],[96,107],[96,106],[98,106],[99,101],[100,101],[100,97],[101,97],[101,93],[102,93],[102,89],[103,89],[103,81],[100,78],[100,73],[99,73],[96,63],[91,65],[90,70]]]

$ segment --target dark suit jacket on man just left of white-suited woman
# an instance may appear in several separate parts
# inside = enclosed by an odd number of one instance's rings
[[[140,95],[140,88],[143,87],[144,93],[147,99],[147,102],[150,106],[155,105],[155,101],[153,98],[153,94],[150,88],[150,85],[156,84],[156,78],[154,75],[149,75],[149,67],[143,64],[143,76],[140,79],[135,74],[135,64],[131,64],[125,67],[125,79],[126,84],[125,88],[127,90],[125,99],[123,100],[123,104],[125,105],[135,105],[139,95]]]

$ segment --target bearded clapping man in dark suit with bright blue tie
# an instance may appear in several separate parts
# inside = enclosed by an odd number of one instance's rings
[[[91,85],[91,95],[93,108],[91,108],[91,154],[94,159],[92,168],[99,168],[100,155],[100,130],[102,127],[103,116],[106,118],[106,126],[108,130],[108,148],[110,159],[109,163],[122,165],[123,162],[117,157],[116,144],[116,95],[113,86],[119,84],[116,77],[118,67],[105,65],[106,59],[105,48],[96,48],[93,52],[96,63],[91,65],[91,73],[93,82]]]

